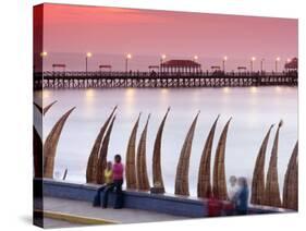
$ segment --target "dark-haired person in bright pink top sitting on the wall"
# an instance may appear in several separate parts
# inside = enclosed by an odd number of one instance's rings
[[[122,193],[122,184],[123,184],[123,172],[124,168],[121,163],[121,156],[118,154],[114,156],[114,163],[112,166],[112,184],[109,187],[106,187],[103,191],[102,198],[102,207],[108,207],[108,194],[111,190],[114,189],[115,199],[113,208],[119,209],[123,207],[123,193]]]

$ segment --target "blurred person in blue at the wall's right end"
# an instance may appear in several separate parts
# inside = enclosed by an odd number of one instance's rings
[[[246,178],[238,178],[238,186],[234,198],[236,215],[247,215],[249,191]]]

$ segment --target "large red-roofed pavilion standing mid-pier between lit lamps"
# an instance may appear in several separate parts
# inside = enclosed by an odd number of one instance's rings
[[[169,60],[160,64],[160,71],[166,73],[200,72],[200,64],[193,60]]]

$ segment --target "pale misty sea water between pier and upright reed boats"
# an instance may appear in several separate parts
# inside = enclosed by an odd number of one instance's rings
[[[281,129],[279,144],[279,179],[282,186],[287,160],[297,139],[297,88],[292,87],[45,90],[44,105],[53,100],[58,102],[44,118],[44,139],[60,115],[76,106],[63,129],[56,158],[56,172],[63,173],[68,168],[69,181],[85,182],[86,163],[91,146],[100,126],[115,105],[119,109],[109,145],[111,159],[119,153],[122,154],[124,161],[127,139],[139,111],[143,115],[137,141],[147,114],[151,113],[147,135],[150,181],[156,133],[167,108],[171,107],[161,148],[162,173],[167,191],[170,193],[174,191],[176,165],[183,141],[198,110],[201,113],[195,132],[189,167],[192,195],[196,195],[198,162],[204,143],[219,113],[221,118],[215,136],[212,160],[221,130],[227,120],[233,117],[227,143],[227,177],[235,174],[250,179],[267,130],[270,124],[283,119],[284,125]],[[270,137],[266,167],[274,132],[276,129]]]

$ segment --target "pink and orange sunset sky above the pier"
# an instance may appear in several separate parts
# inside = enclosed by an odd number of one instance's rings
[[[99,64],[122,70],[126,53],[132,53],[133,70],[158,64],[162,53],[168,60],[198,56],[203,69],[227,56],[227,68],[233,70],[256,57],[254,69],[265,59],[272,70],[277,57],[280,65],[297,57],[297,20],[45,4],[44,50],[46,69],[65,63],[83,70],[90,51],[89,70]]]

